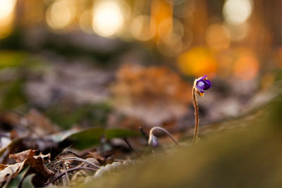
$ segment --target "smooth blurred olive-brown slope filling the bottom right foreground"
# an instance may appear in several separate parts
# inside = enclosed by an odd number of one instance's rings
[[[253,118],[238,119],[247,125],[243,130],[209,134],[197,146],[90,179],[82,187],[281,187],[281,112],[279,96]]]

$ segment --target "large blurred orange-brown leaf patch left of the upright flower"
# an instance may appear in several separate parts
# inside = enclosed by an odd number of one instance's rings
[[[151,127],[183,117],[192,99],[192,86],[161,66],[123,65],[111,89],[117,111]]]

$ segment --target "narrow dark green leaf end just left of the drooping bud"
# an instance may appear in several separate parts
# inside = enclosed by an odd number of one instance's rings
[[[135,137],[135,136],[139,136],[140,133],[134,130],[115,128],[115,129],[106,130],[105,135],[107,139],[113,139],[113,138],[123,138],[123,137]]]

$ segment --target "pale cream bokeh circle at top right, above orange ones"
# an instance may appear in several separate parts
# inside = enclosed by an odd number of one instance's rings
[[[252,13],[250,0],[227,0],[223,6],[223,15],[227,23],[239,25],[245,23]]]

